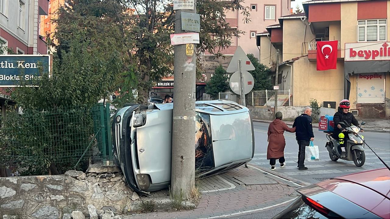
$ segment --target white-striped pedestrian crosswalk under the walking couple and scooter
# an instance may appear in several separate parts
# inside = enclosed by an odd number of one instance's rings
[[[376,152],[383,161],[390,164],[390,152],[378,151]],[[318,175],[326,175],[330,177],[336,177],[341,175],[347,175],[354,172],[360,172],[365,170],[373,170],[377,168],[385,167],[378,157],[371,152],[365,151],[365,164],[362,167],[356,167],[353,161],[344,161],[339,159],[338,161],[331,161],[328,151],[320,151],[320,159],[315,161],[305,161],[305,166],[308,170],[300,171],[297,168],[298,153],[285,152],[285,164],[284,168],[280,168],[279,164],[276,164],[276,172],[281,173],[284,176],[300,178],[300,180],[313,183],[318,180],[314,180]],[[269,160],[267,160],[266,153],[254,154],[254,158],[250,164],[260,166],[262,168],[270,169]],[[313,176],[310,176],[313,175]],[[302,176],[302,177],[300,177]]]

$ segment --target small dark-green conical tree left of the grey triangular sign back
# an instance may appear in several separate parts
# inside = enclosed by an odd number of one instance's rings
[[[223,69],[222,65],[215,69],[213,77],[206,84],[206,94],[215,95],[220,92],[224,92],[229,87],[227,83],[227,72]]]

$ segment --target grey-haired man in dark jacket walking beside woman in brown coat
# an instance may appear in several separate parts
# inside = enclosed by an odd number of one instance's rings
[[[305,149],[309,146],[310,141],[314,140],[314,133],[312,127],[312,108],[305,107],[303,114],[296,117],[293,128],[296,127],[295,136],[298,141],[298,170],[307,170],[305,167]]]

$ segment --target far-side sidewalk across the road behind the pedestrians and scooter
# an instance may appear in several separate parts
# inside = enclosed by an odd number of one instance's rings
[[[367,124],[363,125],[364,131],[368,132],[386,132],[390,133],[390,120],[388,119],[363,119]],[[254,119],[255,122],[271,123],[269,120]],[[287,125],[293,125],[294,122],[283,121]],[[359,123],[361,121],[359,120]],[[318,124],[313,124],[313,128],[318,128]]]

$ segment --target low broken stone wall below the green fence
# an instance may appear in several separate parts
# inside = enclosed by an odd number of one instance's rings
[[[114,217],[133,210],[139,202],[116,166],[93,164],[86,173],[72,170],[65,175],[0,178],[0,218],[62,219],[77,210],[89,217],[92,205],[101,215],[105,210],[110,215],[109,210]]]

